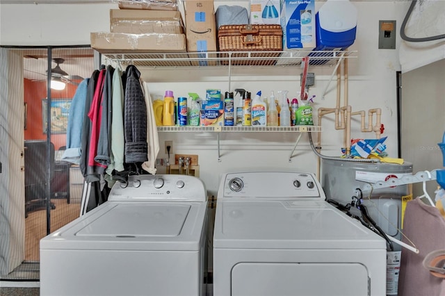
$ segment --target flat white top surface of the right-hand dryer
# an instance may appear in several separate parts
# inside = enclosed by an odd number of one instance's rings
[[[386,249],[383,238],[324,201],[225,201],[215,248]]]

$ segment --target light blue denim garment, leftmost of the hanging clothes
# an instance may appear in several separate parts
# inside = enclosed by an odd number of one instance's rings
[[[89,78],[77,86],[71,101],[67,124],[67,149],[63,151],[62,161],[79,165],[81,162],[83,113],[85,112]]]

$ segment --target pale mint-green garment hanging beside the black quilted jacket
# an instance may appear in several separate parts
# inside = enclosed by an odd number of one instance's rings
[[[122,71],[118,67],[113,74],[113,114],[111,115],[111,154],[110,164],[106,173],[111,176],[113,170],[124,170],[124,88],[122,85]]]

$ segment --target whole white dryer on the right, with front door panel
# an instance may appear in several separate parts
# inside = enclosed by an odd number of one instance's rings
[[[325,202],[313,174],[223,175],[213,295],[386,294],[386,242]]]

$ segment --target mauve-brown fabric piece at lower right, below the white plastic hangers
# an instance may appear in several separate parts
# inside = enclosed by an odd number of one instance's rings
[[[419,254],[402,249],[398,295],[443,296],[445,280],[433,276],[422,261],[432,251],[445,249],[445,220],[434,206],[423,203],[419,197],[407,203],[403,233],[410,238]],[[408,245],[411,243],[402,238]]]

